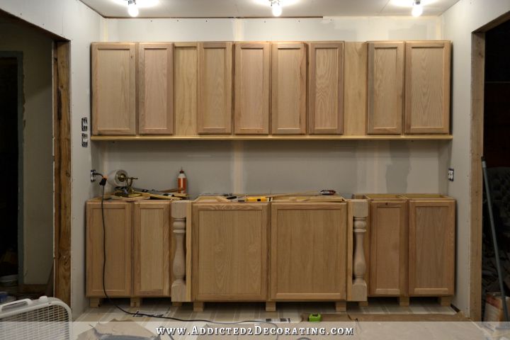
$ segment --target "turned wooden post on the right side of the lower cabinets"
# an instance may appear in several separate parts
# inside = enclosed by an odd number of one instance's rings
[[[366,260],[363,249],[364,237],[367,227],[368,201],[351,200],[353,212],[354,256],[351,300],[367,300],[367,284],[365,281]]]

